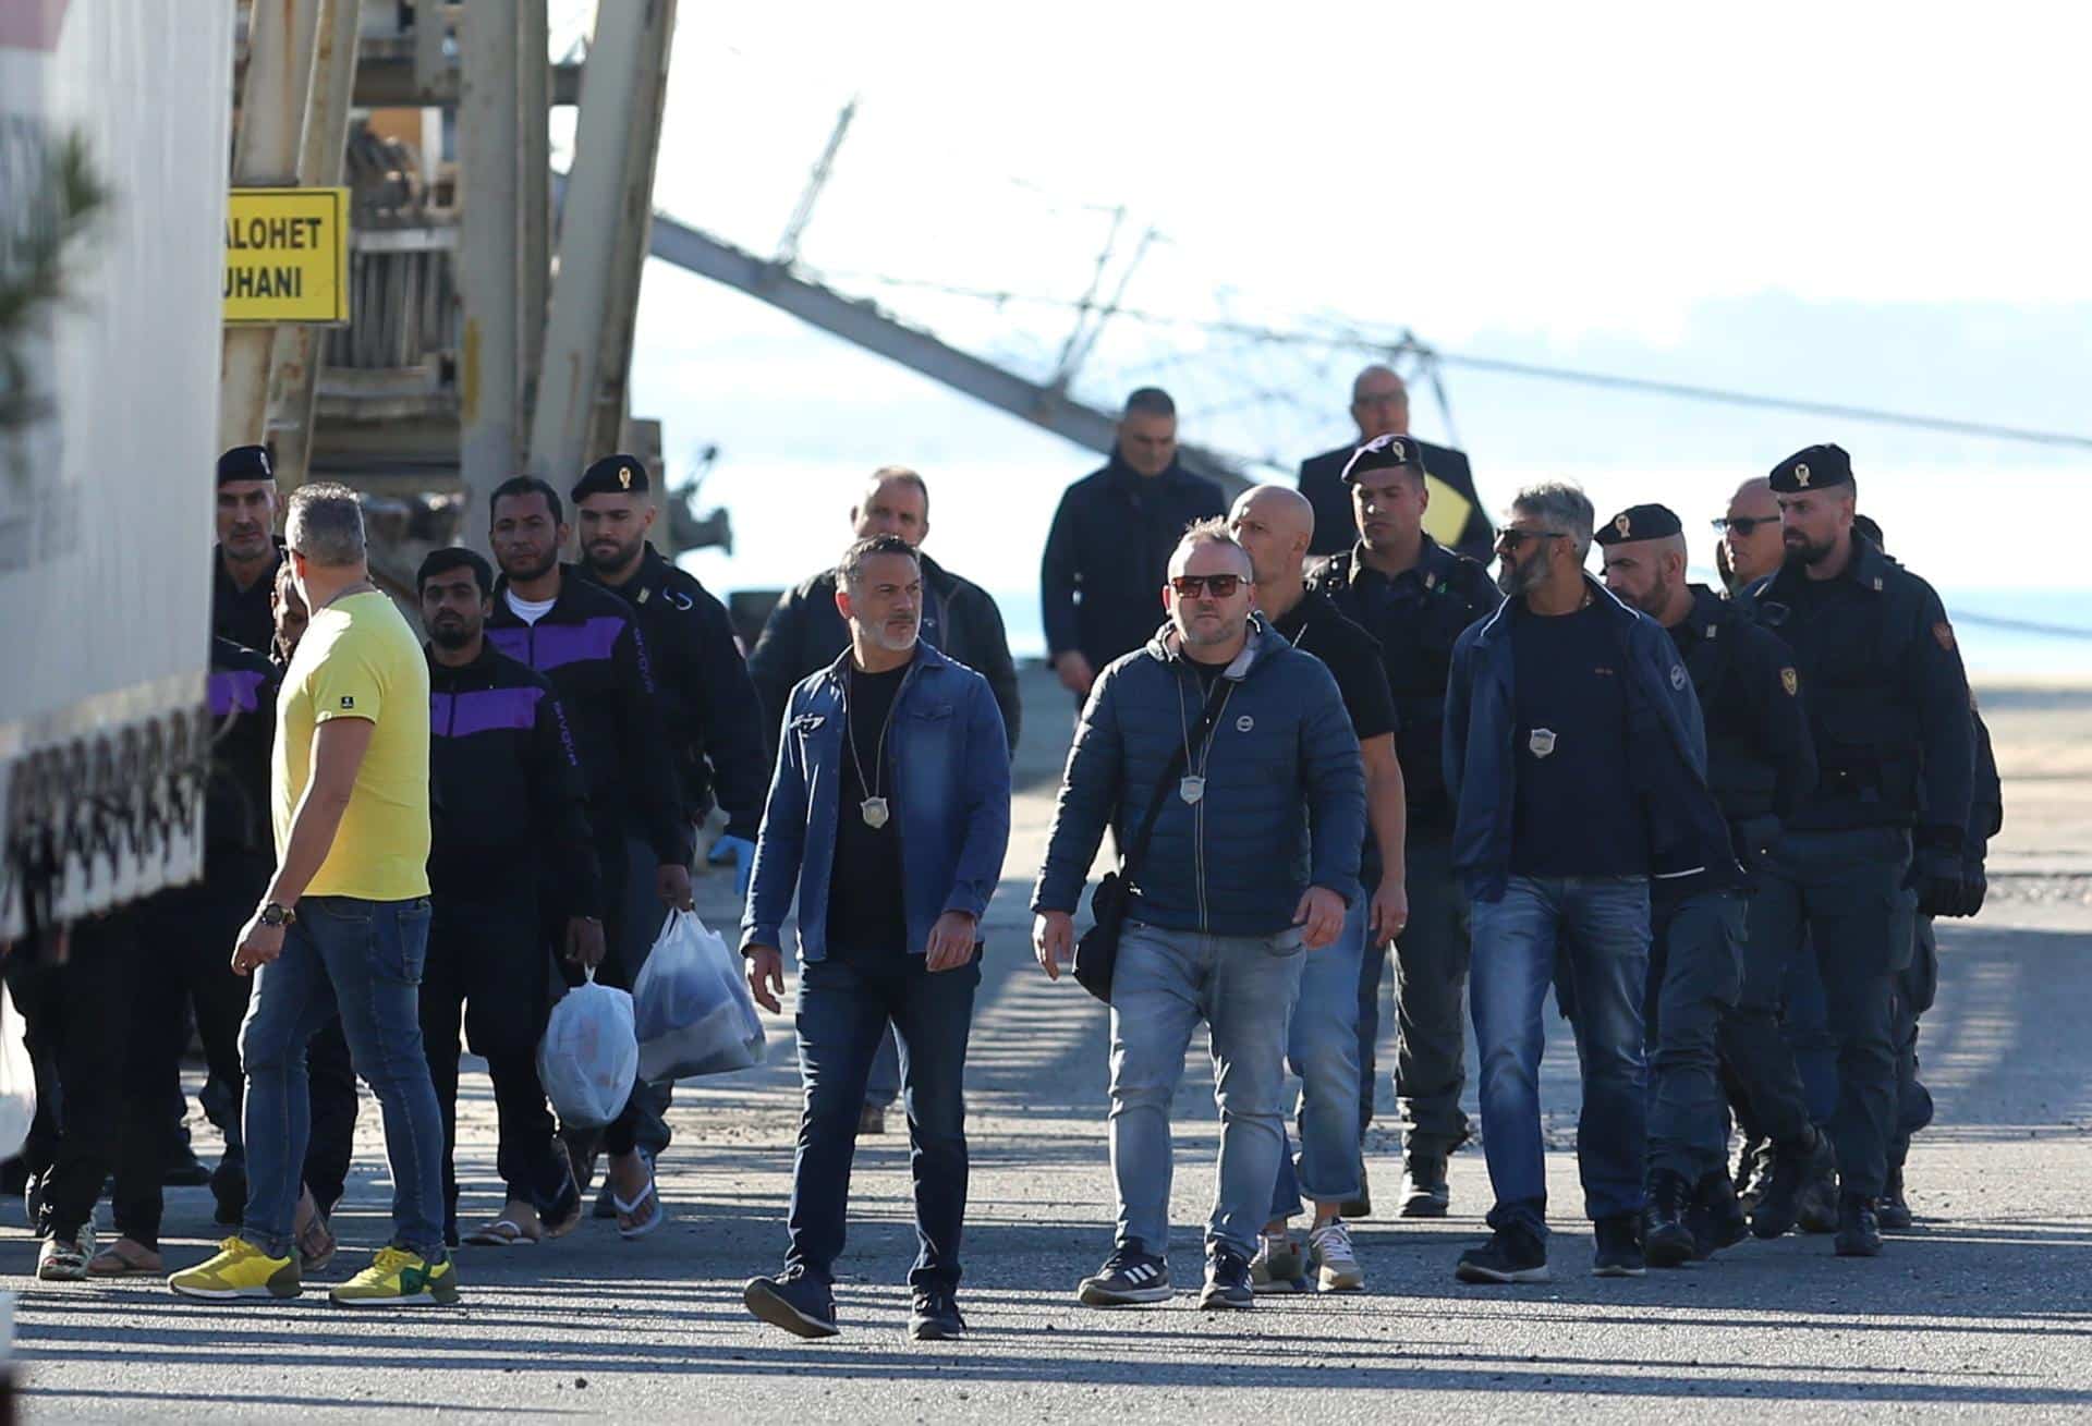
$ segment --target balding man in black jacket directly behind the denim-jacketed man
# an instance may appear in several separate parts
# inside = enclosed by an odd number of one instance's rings
[[[1025,709],[1017,696],[1017,665],[1002,629],[1002,611],[987,590],[923,554],[929,537],[929,485],[908,466],[879,466],[864,502],[849,508],[849,529],[858,539],[900,535],[914,546],[923,562],[923,642],[987,680],[1015,753]],[[849,625],[835,604],[835,569],[810,575],[770,611],[761,638],[749,652],[749,675],[761,694],[764,730],[772,749],[793,686],[808,673],[826,669],[845,648]]]

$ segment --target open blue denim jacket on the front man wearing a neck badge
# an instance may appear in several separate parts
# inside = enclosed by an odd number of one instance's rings
[[[828,956],[828,870],[835,864],[849,652],[791,690],[770,803],[755,841],[741,945],[778,945],[799,897],[799,958]],[[987,680],[916,644],[893,696],[887,774],[900,801],[902,907],[920,956],[946,912],[979,920],[1002,880],[1010,843],[1010,744]]]

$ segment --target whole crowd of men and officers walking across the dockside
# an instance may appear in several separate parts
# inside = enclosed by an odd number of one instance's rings
[[[1111,1006],[1117,1223],[1079,1301],[1172,1296],[1169,1110],[1201,1022],[1222,1135],[1199,1305],[1364,1286],[1349,1223],[1374,1213],[1389,964],[1404,1137],[1381,1213],[1450,1209],[1473,1014],[1494,1206],[1462,1280],[1550,1273],[1550,989],[1584,1079],[1592,1271],[1797,1225],[1879,1255],[1910,1221],[1904,1156],[1931,1114],[1931,918],[1981,907],[2002,818],[1939,598],[1885,554],[1837,445],[1736,491],[1711,590],[1688,583],[1663,504],[1598,521],[1546,483],[1492,529],[1466,458],[1408,435],[1387,368],[1360,374],[1351,414],[1360,439],[1297,489],[1230,508],[1182,468],[1172,399],[1136,391],[1046,539],[1050,663],[1079,717],[1033,951]],[[692,905],[695,828],[718,809],[711,859],[745,887],[747,987],[770,1010],[787,924],[797,939],[789,1252],[747,1305],[837,1332],[854,1146],[902,1096],[908,1330],[962,1336],[967,1037],[1021,707],[996,602],[918,548],[923,477],[870,477],[854,544],[747,659],[724,606],[646,544],[630,456],[567,498],[500,485],[492,562],[423,560],[420,644],[372,583],[354,491],[301,485],[276,539],[282,504],[262,447],[226,452],[203,880],[6,960],[38,1064],[19,1165],[38,1275],[163,1275],[161,1188],[207,1173],[234,1232],[169,1286],[297,1296],[337,1250],[358,1077],[383,1110],[393,1232],[335,1303],[454,1303],[452,1248],[569,1234],[598,1171],[594,1213],[657,1232],[669,1085],[565,1127],[536,1052],[565,987],[634,985],[665,910]],[[1107,830],[1117,872],[1077,933]],[[226,1142],[211,1171],[182,1129],[190,1027]],[[504,1183],[475,1223],[454,1173],[460,1029]]]

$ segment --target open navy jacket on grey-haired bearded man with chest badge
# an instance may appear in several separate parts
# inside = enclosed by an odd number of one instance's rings
[[[1692,680],[1672,636],[1602,583],[1584,588],[1611,615],[1628,703],[1628,776],[1648,826],[1653,891],[1682,897],[1743,880],[1728,820],[1707,790],[1707,734]],[[1510,621],[1523,600],[1504,600],[1452,650],[1446,690],[1446,788],[1454,801],[1452,859],[1469,893],[1498,901],[1510,878],[1517,790],[1517,675]],[[1575,818],[1573,807],[1561,809]]]

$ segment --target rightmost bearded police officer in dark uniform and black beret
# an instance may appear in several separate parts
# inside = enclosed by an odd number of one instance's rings
[[[1895,981],[1910,964],[1914,916],[1962,901],[1975,738],[1954,625],[1933,588],[1854,531],[1858,485],[1837,445],[1810,445],[1772,468],[1787,562],[1738,602],[1778,634],[1807,688],[1818,778],[1759,872],[1743,1014],[1770,1020],[1787,962],[1814,939],[1839,1100],[1841,1257],[1881,1252],[1877,1202],[1897,1119],[1891,1029]],[[1793,1052],[1747,1035],[1766,1056],[1755,1104],[1778,1146],[1751,1232],[1793,1225],[1816,1133]]]

